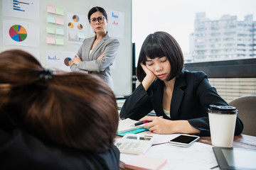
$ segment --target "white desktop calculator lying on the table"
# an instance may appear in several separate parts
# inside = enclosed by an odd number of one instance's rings
[[[144,154],[153,144],[155,136],[126,134],[114,145],[122,154]]]

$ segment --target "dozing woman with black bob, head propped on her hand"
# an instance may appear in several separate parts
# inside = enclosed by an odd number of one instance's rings
[[[210,136],[209,105],[228,103],[210,86],[205,73],[189,72],[183,66],[181,48],[171,35],[165,32],[148,35],[137,65],[137,77],[142,83],[125,101],[120,118],[149,120],[144,128],[158,134]],[[152,110],[157,116],[145,116]],[[237,118],[235,135],[242,129]]]

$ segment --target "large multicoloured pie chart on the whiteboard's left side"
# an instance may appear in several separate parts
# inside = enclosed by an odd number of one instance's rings
[[[28,33],[26,32],[26,29],[23,28],[23,26],[14,25],[9,29],[9,35],[11,39],[15,40],[16,42],[21,42],[26,40]]]

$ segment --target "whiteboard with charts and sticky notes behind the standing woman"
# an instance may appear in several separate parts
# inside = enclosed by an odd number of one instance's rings
[[[3,35],[0,36],[0,50],[3,51],[13,48],[26,50],[35,57],[37,57],[43,67],[47,67],[48,65],[47,61],[49,60],[49,54],[57,52],[57,55],[65,57],[65,55],[73,55],[78,52],[81,44],[70,42],[67,35],[67,31],[69,31],[68,16],[70,16],[70,14],[78,14],[78,16],[86,17],[86,22],[83,25],[84,28],[86,28],[85,33],[80,35],[81,37],[85,36],[85,38],[89,38],[95,35],[87,21],[87,13],[93,6],[101,6],[102,8],[105,8],[108,14],[109,21],[110,15],[116,17],[118,14],[119,17],[123,17],[122,32],[119,33],[119,30],[114,31],[113,33],[110,32],[110,36],[112,36],[113,34],[112,37],[117,38],[117,40],[119,40],[120,42],[119,50],[117,52],[117,58],[111,67],[111,74],[114,81],[114,94],[116,96],[127,96],[132,93],[132,0],[19,0],[20,2],[24,3],[31,3],[31,8],[28,8],[26,5],[20,6],[25,8],[26,11],[32,11],[36,13],[37,4],[39,6],[38,16],[37,14],[33,15],[28,13],[28,15],[24,15],[23,18],[12,15],[12,12],[8,13],[8,10],[6,11],[6,8],[4,8],[4,3],[12,4],[14,3],[13,0],[0,1],[2,6],[0,8],[0,33],[1,35]],[[53,15],[55,14],[49,13],[48,5],[55,6],[56,11],[57,7],[63,9],[63,25],[59,26],[58,24],[49,23],[49,21],[53,19]],[[114,11],[114,13],[110,13],[112,11]],[[27,29],[31,29],[29,31],[33,30],[34,36],[33,38],[30,38],[31,41],[34,42],[21,45],[18,42],[8,43],[7,41],[4,41],[6,40],[6,37],[9,38],[10,36],[8,33],[6,33],[6,28],[9,29],[10,26],[14,25],[13,23],[22,23],[25,25],[26,23],[28,23]],[[58,45],[52,45],[47,43],[50,42],[50,39],[48,38],[50,38],[51,35],[49,33],[49,25],[55,25],[56,27],[60,27],[60,30],[57,30],[56,28],[55,34],[53,34],[53,37],[55,36],[55,38],[60,38],[60,41],[58,40]],[[108,26],[110,26],[110,23],[108,24]],[[112,28],[109,29],[111,30]],[[73,56],[70,57],[72,58]]]

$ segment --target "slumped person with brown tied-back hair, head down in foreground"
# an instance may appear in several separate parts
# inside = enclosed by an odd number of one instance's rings
[[[99,77],[10,50],[0,53],[0,95],[1,170],[119,169],[116,98]]]

